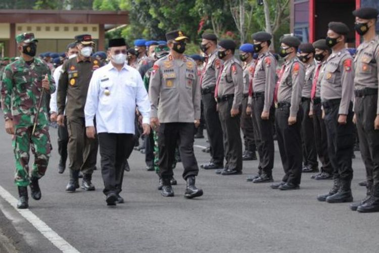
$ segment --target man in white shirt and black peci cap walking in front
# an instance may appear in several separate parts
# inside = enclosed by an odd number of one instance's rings
[[[123,38],[109,41],[110,63],[93,72],[84,107],[86,135],[98,139],[104,194],[108,205],[120,197],[124,164],[134,147],[135,109],[143,116],[144,135],[150,134],[150,102],[139,72],[128,66]],[[96,129],[94,116],[96,115]]]

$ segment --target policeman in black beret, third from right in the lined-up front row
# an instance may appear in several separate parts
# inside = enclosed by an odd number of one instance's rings
[[[299,38],[283,37],[280,41],[280,57],[283,64],[277,85],[277,109],[275,111],[276,136],[281,162],[286,175],[282,182],[271,188],[280,190],[299,189],[301,181],[301,93],[304,85],[304,65],[296,57]],[[276,91],[275,91],[276,92]]]

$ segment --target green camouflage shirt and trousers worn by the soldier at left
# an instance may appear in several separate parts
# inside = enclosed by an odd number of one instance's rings
[[[15,183],[17,186],[29,185],[29,148],[35,156],[31,175],[41,178],[48,167],[52,146],[45,101],[41,103],[38,123],[32,135],[42,91],[42,80],[46,74],[50,81],[49,92],[53,93],[55,85],[51,71],[38,58],[34,58],[30,65],[20,58],[9,64],[3,73],[1,95],[4,117],[6,120],[12,119],[15,128],[12,144],[16,158]],[[42,100],[45,100],[45,96]]]

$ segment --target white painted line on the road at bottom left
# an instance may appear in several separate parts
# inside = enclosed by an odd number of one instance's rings
[[[1,186],[0,196],[4,198],[8,203],[10,203],[22,217],[30,222],[44,237],[48,238],[48,240],[52,242],[59,250],[65,253],[80,253],[70,243],[68,243],[53,229],[51,229],[46,223],[41,221],[29,209],[17,209],[17,199]]]

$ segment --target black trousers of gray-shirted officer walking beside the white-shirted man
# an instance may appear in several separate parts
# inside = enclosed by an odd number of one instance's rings
[[[163,179],[172,178],[172,164],[175,159],[176,145],[179,146],[181,162],[184,167],[183,179],[197,176],[198,162],[194,153],[194,123],[161,123],[158,128],[159,169]]]

